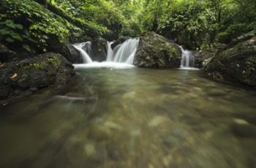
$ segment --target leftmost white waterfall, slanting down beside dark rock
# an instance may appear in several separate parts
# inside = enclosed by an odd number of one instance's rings
[[[73,46],[80,52],[83,63],[92,63],[91,57],[89,56],[91,53],[91,41],[73,44]]]

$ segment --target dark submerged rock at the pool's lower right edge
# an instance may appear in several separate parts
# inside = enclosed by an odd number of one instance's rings
[[[231,129],[233,134],[238,137],[256,137],[256,126],[249,124],[244,119],[234,119]]]

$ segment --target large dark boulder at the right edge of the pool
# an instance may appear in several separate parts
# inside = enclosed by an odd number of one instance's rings
[[[206,66],[206,75],[217,81],[256,87],[256,32],[253,34],[239,37],[219,52]]]

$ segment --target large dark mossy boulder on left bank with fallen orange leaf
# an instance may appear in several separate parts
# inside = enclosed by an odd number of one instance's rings
[[[62,55],[45,53],[0,66],[0,105],[50,86],[64,86],[75,76],[72,64]]]

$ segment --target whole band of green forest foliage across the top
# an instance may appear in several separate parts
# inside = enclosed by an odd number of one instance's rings
[[[228,44],[256,28],[255,0],[3,0],[0,40],[37,53],[64,43],[155,31],[192,49]],[[49,40],[50,39],[50,40]]]

